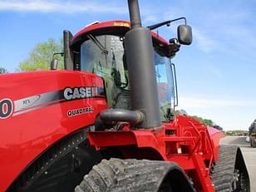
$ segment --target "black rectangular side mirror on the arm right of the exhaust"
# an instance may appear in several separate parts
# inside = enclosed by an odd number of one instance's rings
[[[188,25],[180,25],[177,29],[180,44],[190,45],[192,42],[192,28]]]

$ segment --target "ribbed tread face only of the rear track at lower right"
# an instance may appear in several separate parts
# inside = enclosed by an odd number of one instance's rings
[[[221,145],[219,150],[219,160],[214,165],[211,178],[216,192],[232,191],[234,176],[234,166],[238,146]]]

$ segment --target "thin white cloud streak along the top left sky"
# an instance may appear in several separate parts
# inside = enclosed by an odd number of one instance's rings
[[[50,1],[50,0],[25,0],[25,1],[0,1],[0,11],[18,12],[93,12],[93,13],[116,13],[124,14],[126,7],[104,2],[71,2],[71,1]]]

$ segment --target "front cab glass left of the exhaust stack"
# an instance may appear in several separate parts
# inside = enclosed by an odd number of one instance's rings
[[[81,44],[81,70],[103,77],[110,108],[129,108],[128,71],[123,38],[112,35],[92,37]]]

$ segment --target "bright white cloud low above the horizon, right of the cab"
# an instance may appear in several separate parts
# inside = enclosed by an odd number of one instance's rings
[[[180,96],[179,109],[190,116],[213,120],[224,130],[248,130],[255,119],[256,101],[211,99],[206,96]]]

